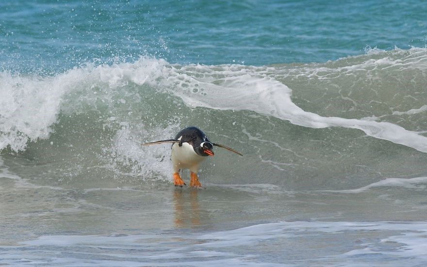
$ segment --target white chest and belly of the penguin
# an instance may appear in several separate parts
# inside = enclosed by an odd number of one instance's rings
[[[206,159],[206,157],[197,155],[193,146],[187,142],[183,142],[181,146],[178,143],[174,143],[171,155],[172,163],[179,165],[180,169],[188,169]]]

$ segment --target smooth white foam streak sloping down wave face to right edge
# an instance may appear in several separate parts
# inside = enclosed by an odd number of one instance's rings
[[[194,86],[200,84],[199,87],[204,89],[203,94],[194,94],[189,90],[173,90],[189,106],[223,110],[254,110],[261,114],[290,121],[299,126],[312,128],[334,126],[360,129],[369,136],[427,152],[427,138],[401,126],[387,122],[322,117],[304,111],[292,102],[292,91],[286,85],[274,78],[263,77],[250,68],[241,69],[237,72],[232,71],[233,67],[223,67],[221,71],[216,70],[217,67],[210,66],[195,66],[195,68],[202,68],[203,70],[200,72],[210,73],[211,78],[197,80],[196,77],[189,77],[181,69],[182,74],[174,79],[175,81],[187,79],[193,81]],[[188,67],[188,71],[190,69]],[[223,79],[216,78],[221,75],[225,77]]]

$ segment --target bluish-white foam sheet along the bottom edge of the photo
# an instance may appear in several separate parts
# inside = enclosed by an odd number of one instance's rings
[[[210,233],[40,236],[0,246],[0,264],[358,266],[387,261],[388,266],[421,266],[427,263],[426,234],[425,221],[283,221]]]

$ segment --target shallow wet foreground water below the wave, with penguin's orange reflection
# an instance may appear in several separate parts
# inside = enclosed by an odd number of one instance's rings
[[[1,196],[2,264],[399,266],[427,260],[427,177],[330,192],[211,183],[196,190],[159,182],[66,189],[3,176],[9,193]]]

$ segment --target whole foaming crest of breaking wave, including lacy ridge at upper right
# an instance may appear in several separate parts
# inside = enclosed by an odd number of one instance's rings
[[[372,50],[358,57],[303,66],[179,65],[142,57],[134,63],[87,64],[53,77],[1,72],[0,149],[9,146],[20,151],[30,140],[48,138],[61,112],[85,112],[82,109],[87,107],[99,109],[97,103],[102,102],[108,110],[104,112],[117,113],[124,110],[116,110],[117,101],[129,105],[128,98],[135,107],[141,95],[153,89],[153,94],[174,95],[192,108],[252,110],[299,126],[359,129],[369,136],[427,152],[427,138],[420,134],[421,131],[378,121],[381,117],[373,114],[371,116],[376,119],[366,120],[306,111],[294,103],[292,90],[283,83],[283,80],[292,81],[302,76],[312,79],[313,73],[317,78],[332,80],[337,77],[334,73],[343,75],[343,71],[344,75],[354,76],[361,70],[369,73],[373,68],[387,71],[397,66],[424,73],[426,51],[424,48]],[[135,86],[139,87],[136,93],[132,91]],[[423,107],[413,107],[410,111],[418,109],[421,112],[425,110]],[[420,113],[410,111],[394,111],[390,115]]]

